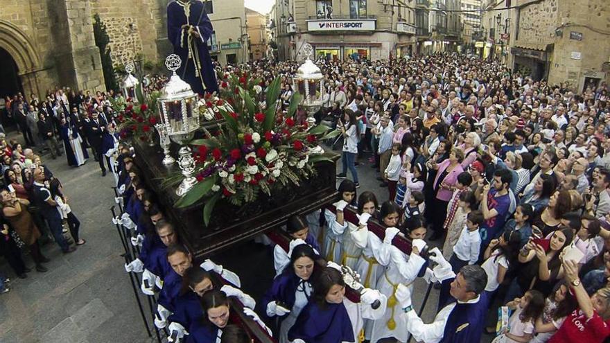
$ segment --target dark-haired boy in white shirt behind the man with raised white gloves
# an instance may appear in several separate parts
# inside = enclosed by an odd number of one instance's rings
[[[464,265],[473,265],[478,261],[481,249],[479,225],[483,220],[485,218],[481,211],[468,213],[466,226],[462,229],[458,243],[453,247],[453,256],[449,260],[455,274],[458,274]]]

